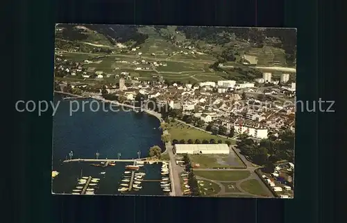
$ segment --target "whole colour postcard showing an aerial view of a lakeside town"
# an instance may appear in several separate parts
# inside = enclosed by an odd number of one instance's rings
[[[53,194],[294,198],[296,28],[55,32]]]

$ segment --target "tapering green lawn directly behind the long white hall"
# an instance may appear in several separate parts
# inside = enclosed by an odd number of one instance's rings
[[[221,138],[217,135],[212,135],[211,133],[206,133],[204,131],[200,131],[198,129],[195,129],[194,127],[187,126],[186,124],[183,124],[181,122],[171,122],[169,124],[169,133],[171,134],[171,139],[176,140],[187,140],[192,139],[193,142],[195,140],[200,140],[201,142],[203,140],[210,141],[211,139],[216,140],[222,140],[225,142],[226,138]],[[230,142],[232,140],[229,140]]]

